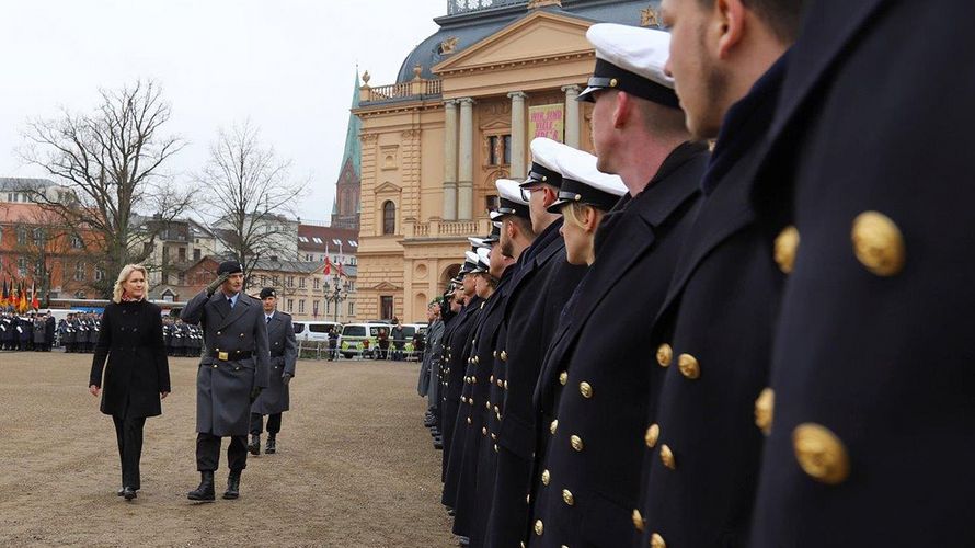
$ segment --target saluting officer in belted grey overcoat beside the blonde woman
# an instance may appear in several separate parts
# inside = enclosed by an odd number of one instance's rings
[[[230,437],[230,476],[223,498],[240,495],[240,475],[248,461],[251,402],[268,386],[264,313],[261,302],[243,293],[243,279],[239,262],[220,263],[217,279],[193,297],[180,315],[184,322],[203,327],[206,345],[196,375],[196,468],[202,480],[187,494],[193,501],[214,500],[221,437]]]

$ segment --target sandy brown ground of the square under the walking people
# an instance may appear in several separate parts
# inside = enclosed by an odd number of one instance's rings
[[[196,362],[146,423],[127,503],[90,355],[0,353],[0,546],[456,546],[415,363],[299,362],[276,455],[251,456],[241,498],[192,503]]]

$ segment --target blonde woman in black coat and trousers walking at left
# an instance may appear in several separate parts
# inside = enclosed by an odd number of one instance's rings
[[[118,274],[112,302],[102,315],[89,383],[92,396],[102,395],[102,412],[115,422],[122,460],[118,495],[128,501],[140,488],[146,418],[162,414],[161,400],[170,392],[161,309],[146,300],[146,269],[137,264],[126,265]]]

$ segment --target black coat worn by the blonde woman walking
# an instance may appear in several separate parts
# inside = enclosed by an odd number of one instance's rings
[[[171,387],[161,312],[145,300],[105,307],[88,383],[102,388],[103,413],[128,418],[162,413],[159,392]]]

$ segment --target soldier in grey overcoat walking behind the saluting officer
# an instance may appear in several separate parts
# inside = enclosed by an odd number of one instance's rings
[[[271,385],[251,404],[251,455],[261,453],[261,432],[267,415],[267,447],[264,453],[277,452],[277,433],[280,432],[282,413],[289,409],[288,386],[295,377],[298,359],[298,341],[291,316],[277,310],[277,295],[273,287],[261,289],[261,304],[267,326],[267,343],[271,347]]]

